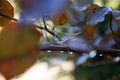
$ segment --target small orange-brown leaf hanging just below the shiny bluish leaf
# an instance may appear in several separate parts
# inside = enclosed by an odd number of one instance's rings
[[[93,38],[96,30],[96,26],[86,25],[84,28],[84,34],[88,39]]]

